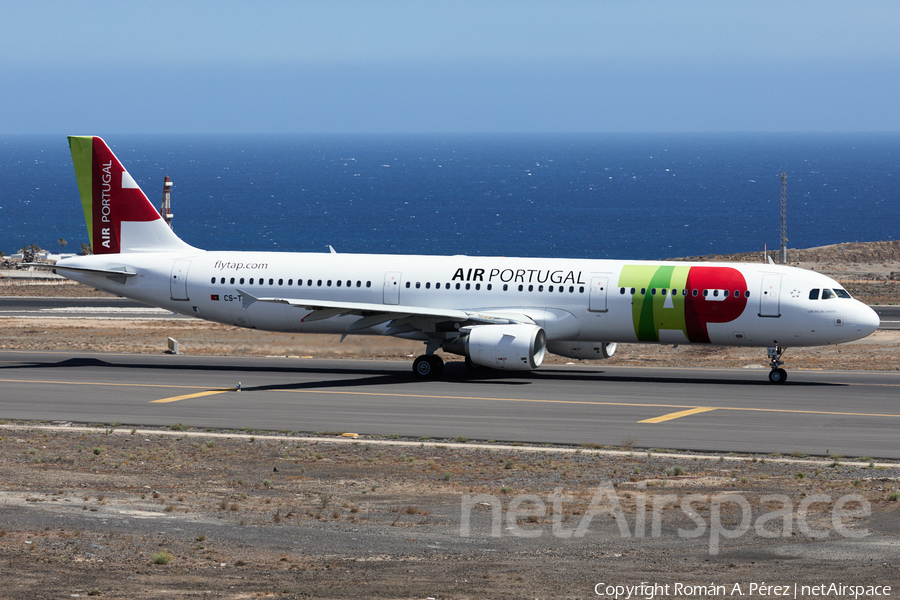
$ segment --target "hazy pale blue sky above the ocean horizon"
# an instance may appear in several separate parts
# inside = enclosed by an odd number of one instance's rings
[[[4,2],[0,134],[900,131],[900,2]]]

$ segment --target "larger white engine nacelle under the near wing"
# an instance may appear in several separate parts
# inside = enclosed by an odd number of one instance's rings
[[[492,369],[537,369],[546,351],[547,334],[537,325],[477,325],[465,338],[469,360]]]

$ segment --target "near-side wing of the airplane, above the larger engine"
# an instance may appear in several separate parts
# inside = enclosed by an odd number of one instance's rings
[[[382,323],[390,322],[390,329],[385,332],[388,335],[405,333],[406,331],[423,331],[425,321],[436,324],[447,321],[456,321],[460,324],[471,325],[474,323],[504,325],[509,323],[530,322],[530,319],[522,316],[516,319],[513,316],[494,316],[477,311],[458,310],[454,308],[432,308],[424,306],[405,306],[399,304],[370,304],[367,302],[335,302],[331,300],[307,300],[302,298],[257,298],[244,290],[237,290],[241,294],[244,308],[249,308],[255,302],[272,302],[275,304],[287,304],[296,308],[312,311],[303,318],[304,322],[319,321],[331,317],[344,315],[359,315],[363,317],[347,328],[347,332],[359,331],[375,327]],[[402,329],[402,330],[401,330]]]

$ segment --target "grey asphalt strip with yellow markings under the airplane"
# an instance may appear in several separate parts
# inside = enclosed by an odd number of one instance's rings
[[[0,390],[3,419],[900,458],[895,372],[0,351]]]

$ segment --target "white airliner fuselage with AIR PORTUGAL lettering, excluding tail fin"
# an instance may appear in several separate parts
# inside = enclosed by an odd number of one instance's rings
[[[127,267],[137,275],[60,272],[174,312],[268,331],[343,334],[363,317],[336,313],[306,320],[313,311],[285,303],[245,307],[242,291],[524,315],[551,341],[819,346],[865,337],[879,324],[874,311],[849,297],[811,299],[813,290],[840,289],[833,279],[771,264],[202,250],[86,256],[59,264]],[[739,283],[715,283],[725,271],[728,281]],[[699,289],[697,273],[706,273]],[[685,277],[694,284],[685,284]],[[352,332],[391,333],[387,327]],[[425,339],[418,332],[396,335]]]

